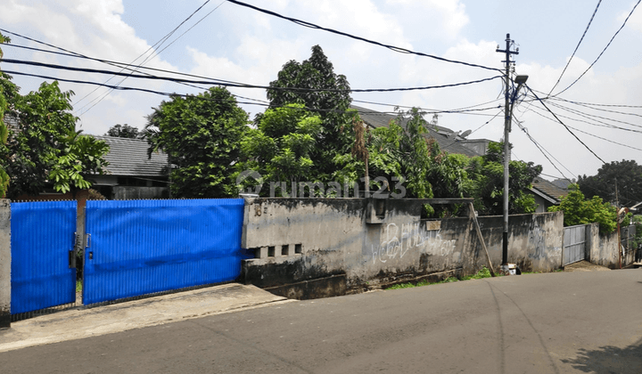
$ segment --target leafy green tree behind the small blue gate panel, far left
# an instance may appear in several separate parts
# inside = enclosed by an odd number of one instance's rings
[[[8,196],[37,194],[48,185],[63,193],[89,188],[86,175],[103,174],[109,146],[76,131],[78,118],[70,113],[73,93],[62,92],[54,81],[21,96],[9,79],[2,81],[4,89],[12,91],[5,98],[19,127],[0,145],[0,159],[11,178]]]

